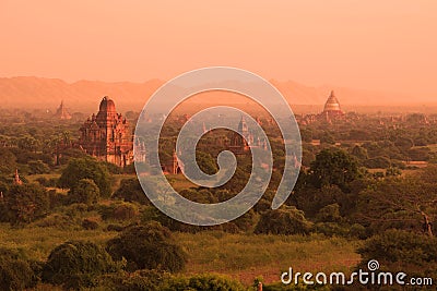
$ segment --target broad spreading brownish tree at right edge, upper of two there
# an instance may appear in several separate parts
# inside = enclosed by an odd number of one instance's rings
[[[433,235],[437,216],[437,167],[406,178],[386,178],[358,195],[356,219],[380,232],[390,228]]]

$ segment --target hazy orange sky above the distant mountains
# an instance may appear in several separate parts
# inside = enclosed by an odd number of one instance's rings
[[[0,0],[0,76],[168,80],[208,65],[437,100],[437,1]]]

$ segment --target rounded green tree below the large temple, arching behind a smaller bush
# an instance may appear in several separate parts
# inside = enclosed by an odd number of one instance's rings
[[[59,178],[59,185],[62,187],[73,189],[82,179],[91,179],[98,186],[101,195],[110,196],[110,175],[105,166],[96,159],[73,158],[70,159],[67,168]]]

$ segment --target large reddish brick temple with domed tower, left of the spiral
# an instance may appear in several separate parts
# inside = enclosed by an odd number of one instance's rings
[[[117,113],[111,99],[102,99],[97,114],[81,126],[80,147],[99,160],[126,167],[133,162],[133,138],[129,122]]]

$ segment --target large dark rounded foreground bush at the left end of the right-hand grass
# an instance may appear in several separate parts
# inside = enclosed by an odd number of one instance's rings
[[[158,222],[126,229],[107,244],[115,259],[125,257],[128,268],[179,271],[186,264],[186,253],[173,240],[172,232]]]

